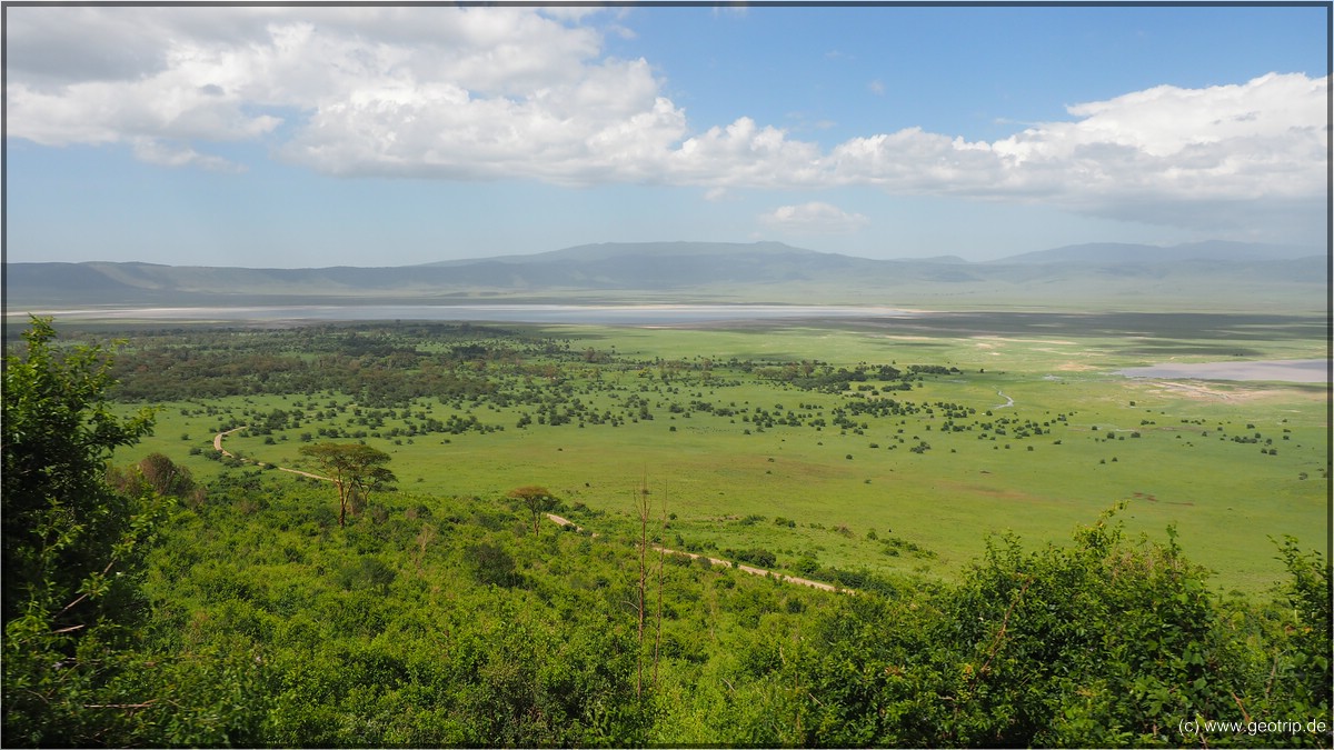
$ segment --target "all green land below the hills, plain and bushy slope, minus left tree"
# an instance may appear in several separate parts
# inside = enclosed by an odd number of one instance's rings
[[[1119,374],[1319,318],[55,327],[153,414],[108,480],[175,499],[7,742],[1331,739],[1329,384]],[[346,524],[327,443],[392,472]]]

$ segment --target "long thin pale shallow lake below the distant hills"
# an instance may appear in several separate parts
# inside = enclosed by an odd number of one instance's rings
[[[271,307],[121,307],[52,310],[67,320],[468,320],[492,323],[588,323],[604,326],[671,326],[732,320],[802,318],[904,318],[892,307],[803,304],[367,304]],[[11,312],[27,316],[27,312]]]

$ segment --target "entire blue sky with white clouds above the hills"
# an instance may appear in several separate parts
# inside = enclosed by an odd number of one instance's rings
[[[1326,7],[7,7],[5,260],[1327,247]]]

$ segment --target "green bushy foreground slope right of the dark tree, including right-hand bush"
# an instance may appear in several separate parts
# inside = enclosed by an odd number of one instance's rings
[[[309,503],[320,487],[241,479],[216,483],[155,551],[153,650],[121,654],[139,669],[97,702],[145,705],[72,713],[88,731],[261,746],[1322,742],[1178,733],[1181,718],[1239,718],[1233,694],[1251,717],[1326,715],[1327,689],[1301,665],[1327,643],[1293,627],[1318,611],[1221,601],[1170,535],[1133,543],[1109,519],[1069,547],[995,539],[960,583],[903,578],[886,594],[664,566],[660,677],[636,690],[638,539],[535,538],[507,496],[402,492],[383,520],[331,534]],[[1305,602],[1323,569],[1293,551]]]

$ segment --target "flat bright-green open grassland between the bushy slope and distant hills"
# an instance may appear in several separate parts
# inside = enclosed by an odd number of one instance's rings
[[[458,368],[495,391],[390,406],[334,388],[159,402],[156,435],[116,458],[160,451],[207,478],[228,471],[211,456],[224,428],[249,426],[227,438],[229,451],[291,467],[303,467],[305,440],[359,439],[392,455],[403,490],[448,503],[544,484],[607,532],[628,532],[647,480],[674,514],[668,543],[766,548],[787,570],[815,560],[952,578],[988,534],[1061,543],[1129,500],[1131,531],[1175,526],[1219,589],[1257,594],[1282,573],[1271,539],[1319,544],[1329,527],[1325,384],[1114,374],[1167,360],[1325,358],[1319,320],[970,312],[510,331],[560,356],[479,350]],[[280,334],[228,335],[240,358]],[[407,340],[388,326],[364,335]],[[407,344],[434,355],[458,351],[459,339]],[[128,359],[151,346],[131,339]],[[284,356],[316,359],[296,347]],[[860,366],[868,378],[820,388],[780,376],[803,362],[812,376]],[[878,379],[882,366],[914,364],[939,371]],[[284,416],[269,420],[275,411]]]

